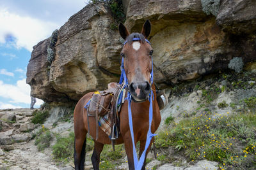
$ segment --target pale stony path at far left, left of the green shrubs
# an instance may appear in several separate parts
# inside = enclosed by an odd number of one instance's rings
[[[59,169],[51,152],[38,152],[33,139],[38,125],[30,122],[33,110],[1,110],[0,169]]]

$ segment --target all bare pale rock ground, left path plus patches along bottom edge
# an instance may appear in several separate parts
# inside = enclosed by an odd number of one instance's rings
[[[72,162],[67,164],[59,164],[52,157],[50,148],[46,148],[44,152],[38,151],[35,145],[36,131],[41,129],[40,125],[31,123],[33,110],[29,109],[10,109],[0,110],[0,169],[74,169]],[[51,128],[52,132],[59,132],[65,134],[67,129],[72,129],[72,122],[60,123],[56,127],[51,127],[49,122],[53,122],[51,116],[45,122],[45,125]],[[52,145],[52,144],[51,144]],[[86,154],[85,169],[92,169],[90,156],[92,152]],[[151,161],[147,164],[147,169],[152,169],[162,163],[154,159],[154,154],[149,153],[148,158]],[[128,169],[126,159],[118,161],[119,166],[116,169]],[[164,164],[158,169],[218,169],[218,163],[202,160],[194,166],[175,167],[172,164]]]

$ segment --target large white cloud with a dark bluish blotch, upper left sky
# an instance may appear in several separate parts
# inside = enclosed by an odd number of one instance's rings
[[[0,9],[0,23],[0,43],[13,43],[16,48],[24,47],[29,51],[59,27],[53,22],[10,13],[6,8]]]

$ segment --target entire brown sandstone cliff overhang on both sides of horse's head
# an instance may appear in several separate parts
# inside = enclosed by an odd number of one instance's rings
[[[123,4],[130,32],[140,32],[146,19],[152,23],[148,39],[154,48],[157,87],[228,69],[234,57],[244,63],[256,59],[253,0],[221,1],[216,18],[202,11],[200,0]],[[34,46],[27,72],[31,95],[48,103],[67,103],[118,81],[122,39],[110,29],[113,20],[106,3],[89,4],[58,30],[51,62],[51,38]]]

